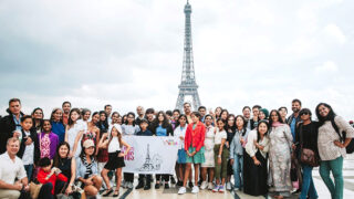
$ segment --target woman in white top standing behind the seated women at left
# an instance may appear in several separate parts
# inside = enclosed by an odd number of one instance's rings
[[[69,114],[69,121],[65,128],[65,142],[70,145],[70,157],[79,157],[81,153],[81,137],[84,132],[82,123],[77,123],[80,119],[80,109],[72,108]]]

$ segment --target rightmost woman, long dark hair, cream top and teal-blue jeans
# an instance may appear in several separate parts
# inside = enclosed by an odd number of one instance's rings
[[[316,106],[319,118],[319,154],[321,157],[320,175],[325,186],[331,192],[332,198],[343,198],[343,158],[346,155],[345,147],[354,137],[353,127],[337,116],[332,107],[326,103]],[[343,140],[343,132],[346,138]],[[332,172],[334,182],[330,177]]]

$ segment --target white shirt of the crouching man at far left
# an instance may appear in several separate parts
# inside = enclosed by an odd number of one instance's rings
[[[0,155],[0,180],[14,184],[14,179],[27,177],[22,160],[15,156],[14,161],[10,159],[8,151]]]

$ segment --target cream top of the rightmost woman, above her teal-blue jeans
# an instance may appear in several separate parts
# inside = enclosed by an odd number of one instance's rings
[[[346,137],[354,137],[354,129],[353,127],[344,121],[341,116],[335,116],[334,122],[339,127],[340,132],[346,132]],[[335,132],[334,127],[332,126],[331,121],[326,121],[322,126],[319,128],[319,154],[321,160],[333,160],[339,157],[345,157],[346,150],[345,148],[340,148],[334,145],[335,140],[340,140],[339,134]]]

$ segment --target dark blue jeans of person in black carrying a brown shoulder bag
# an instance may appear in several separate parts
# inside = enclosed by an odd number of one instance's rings
[[[308,165],[302,165],[302,188],[300,199],[306,199],[308,193],[311,199],[319,198],[316,188],[314,187],[313,179],[312,179],[312,168]]]

